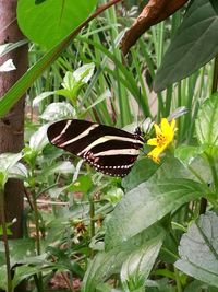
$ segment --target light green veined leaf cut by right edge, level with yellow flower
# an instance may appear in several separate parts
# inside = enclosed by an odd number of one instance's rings
[[[218,93],[213,94],[201,106],[196,119],[196,133],[202,144],[218,147]]]

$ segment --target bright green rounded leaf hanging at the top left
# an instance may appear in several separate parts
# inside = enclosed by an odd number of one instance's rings
[[[75,30],[94,10],[96,0],[53,1],[36,5],[34,1],[20,0],[17,21],[23,34],[48,48]]]

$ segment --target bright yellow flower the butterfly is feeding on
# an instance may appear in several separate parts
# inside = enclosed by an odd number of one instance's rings
[[[160,127],[155,124],[156,138],[149,139],[147,141],[148,145],[155,145],[155,148],[147,154],[148,157],[153,159],[154,162],[160,162],[160,154],[172,142],[175,132],[175,120],[172,119],[171,124],[162,118]]]

